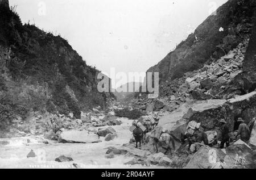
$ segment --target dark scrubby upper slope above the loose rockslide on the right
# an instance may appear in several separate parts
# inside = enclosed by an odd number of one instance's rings
[[[209,16],[148,72],[159,72],[163,82],[183,77],[186,72],[202,68],[206,62],[210,64],[218,60],[242,41],[243,34],[248,33],[254,10],[253,0],[229,0],[217,10],[217,15]]]

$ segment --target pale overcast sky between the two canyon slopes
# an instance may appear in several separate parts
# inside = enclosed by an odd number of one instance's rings
[[[9,0],[102,72],[146,72],[227,0]],[[127,79],[128,80],[128,79]]]

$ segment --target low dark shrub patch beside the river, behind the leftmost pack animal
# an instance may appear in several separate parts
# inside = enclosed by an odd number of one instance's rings
[[[137,109],[129,110],[129,108],[123,108],[122,110],[114,110],[114,111],[115,111],[115,115],[121,118],[138,119],[144,115],[142,111]]]

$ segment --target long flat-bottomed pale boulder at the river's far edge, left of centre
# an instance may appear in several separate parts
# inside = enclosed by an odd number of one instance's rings
[[[64,131],[59,136],[60,143],[98,143],[98,135],[89,131]]]

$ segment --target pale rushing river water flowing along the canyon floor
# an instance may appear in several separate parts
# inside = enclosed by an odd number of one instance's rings
[[[105,157],[108,150],[106,148],[129,143],[132,137],[129,127],[133,121],[125,118],[119,120],[122,121],[122,124],[113,126],[115,131],[117,131],[118,137],[109,142],[104,141],[104,137],[101,138],[101,143],[50,143],[48,145],[38,144],[30,137],[1,139],[1,141],[9,141],[10,144],[0,145],[0,168],[75,168],[73,166],[74,163],[79,168],[156,168],[152,166],[124,165],[125,162],[133,159],[133,157],[124,155],[115,155],[112,159]],[[31,143],[26,143],[27,139],[30,139]],[[27,154],[31,149],[39,156],[27,158]],[[55,162],[55,158],[61,155],[72,157],[74,161]]]

